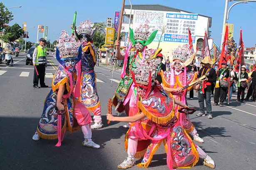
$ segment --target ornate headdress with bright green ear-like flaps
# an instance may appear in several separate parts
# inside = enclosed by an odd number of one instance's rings
[[[139,27],[137,27],[134,32],[131,28],[129,28],[129,29],[130,29],[130,40],[132,41],[132,44],[133,45],[135,44],[136,39],[141,39],[142,41],[139,41],[139,42],[144,46],[147,46],[154,40],[155,36],[157,35],[157,31],[158,31],[158,30],[155,30],[151,34],[149,32],[148,21],[146,21],[146,23],[144,23],[144,24],[140,24]]]

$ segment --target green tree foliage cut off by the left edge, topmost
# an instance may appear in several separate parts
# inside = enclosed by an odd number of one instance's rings
[[[12,12],[10,12],[8,8],[5,7],[2,2],[0,2],[0,29],[3,29],[4,25],[12,21],[12,19]]]

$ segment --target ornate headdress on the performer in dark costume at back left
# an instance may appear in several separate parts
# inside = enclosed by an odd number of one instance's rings
[[[76,28],[75,27],[75,34],[77,38],[80,40],[82,34],[89,35],[89,38],[92,39],[96,32],[96,28],[93,28],[93,22],[89,19],[80,22],[80,25]]]

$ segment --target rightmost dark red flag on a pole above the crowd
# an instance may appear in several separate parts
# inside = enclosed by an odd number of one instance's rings
[[[242,29],[240,29],[240,40],[239,40],[239,46],[236,51],[236,66],[235,70],[239,72],[240,66],[245,65],[244,63],[244,42],[242,38]]]

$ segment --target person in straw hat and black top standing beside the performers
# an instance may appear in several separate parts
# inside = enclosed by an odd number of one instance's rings
[[[204,100],[206,102],[206,110],[208,114],[208,119],[212,119],[211,113],[211,84],[216,82],[216,71],[211,68],[211,65],[214,64],[211,61],[210,56],[205,56],[201,61],[202,68],[199,70],[198,78],[203,75],[206,75],[206,79],[199,81],[196,85],[199,87],[198,90],[198,102],[200,107],[200,112],[196,116],[205,116]],[[196,89],[197,89],[196,87]]]

